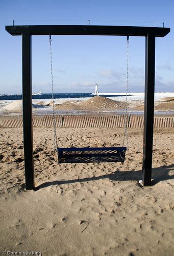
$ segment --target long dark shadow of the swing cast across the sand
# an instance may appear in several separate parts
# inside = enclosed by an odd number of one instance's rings
[[[160,181],[174,179],[174,175],[169,175],[169,172],[174,169],[174,164],[169,166],[163,165],[158,168],[152,169],[152,186],[157,184]],[[38,190],[43,187],[48,187],[52,185],[62,185],[62,184],[71,184],[76,182],[89,182],[94,180],[100,179],[109,179],[112,181],[139,181],[141,180],[141,170],[133,171],[119,171],[113,172],[112,174],[101,175],[97,177],[91,178],[83,178],[83,179],[74,179],[74,180],[62,180],[62,181],[51,181],[51,182],[44,182],[37,186],[35,190]]]

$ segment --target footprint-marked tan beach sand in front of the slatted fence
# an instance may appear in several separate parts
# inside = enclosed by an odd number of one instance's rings
[[[26,191],[22,130],[1,127],[0,251],[173,255],[173,129],[154,131],[153,185],[141,187],[142,129],[125,163],[58,164],[53,129],[36,128],[37,191]],[[123,129],[57,129],[59,146],[120,146]]]

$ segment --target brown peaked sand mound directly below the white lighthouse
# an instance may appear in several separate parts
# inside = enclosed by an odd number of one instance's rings
[[[97,110],[97,109],[118,109],[125,108],[125,104],[108,99],[106,97],[94,96],[88,100],[77,102],[77,103],[63,103],[57,104],[56,109],[66,110]]]

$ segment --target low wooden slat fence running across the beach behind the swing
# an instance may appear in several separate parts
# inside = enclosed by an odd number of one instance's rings
[[[124,127],[125,115],[103,115],[103,116],[56,116],[56,127]],[[21,119],[6,119],[3,120],[3,127],[22,127]],[[53,127],[53,117],[33,117],[33,127]],[[128,115],[128,127],[143,128],[144,117],[140,115]],[[173,117],[154,117],[154,127],[168,128],[173,127]]]

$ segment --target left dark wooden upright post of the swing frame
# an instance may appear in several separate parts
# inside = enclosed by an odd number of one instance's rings
[[[23,145],[26,189],[34,189],[31,35],[22,34]]]

